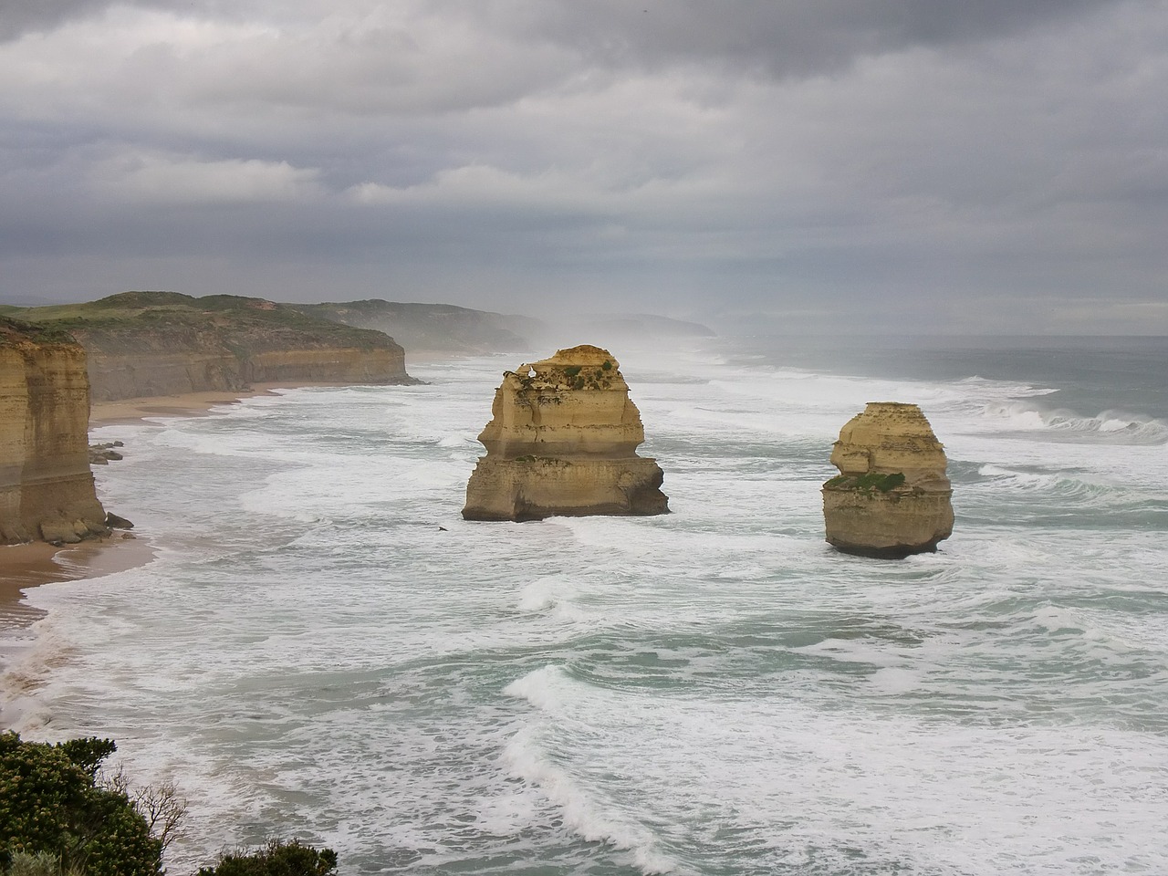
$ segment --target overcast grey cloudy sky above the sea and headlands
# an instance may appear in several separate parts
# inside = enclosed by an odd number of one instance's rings
[[[0,0],[0,303],[1168,334],[1168,0]]]

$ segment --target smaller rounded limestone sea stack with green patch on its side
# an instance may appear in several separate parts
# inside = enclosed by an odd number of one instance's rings
[[[823,485],[827,541],[871,557],[937,550],[953,533],[946,461],[920,408],[869,402],[832,451],[840,474]]]

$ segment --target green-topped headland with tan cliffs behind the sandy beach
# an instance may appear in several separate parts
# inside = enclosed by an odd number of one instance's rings
[[[405,352],[384,333],[262,298],[123,292],[13,315],[65,329],[85,347],[95,402],[252,383],[413,383]]]

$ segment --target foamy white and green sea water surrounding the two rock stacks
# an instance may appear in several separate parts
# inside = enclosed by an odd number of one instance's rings
[[[1168,343],[614,349],[672,514],[460,517],[505,368],[97,430],[146,566],[37,588],[29,738],[189,800],[172,874],[269,836],[342,874],[1168,872]],[[869,401],[957,524],[823,542]]]

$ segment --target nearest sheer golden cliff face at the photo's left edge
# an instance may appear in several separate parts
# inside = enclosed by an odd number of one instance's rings
[[[0,544],[106,535],[89,468],[85,352],[0,318]]]

